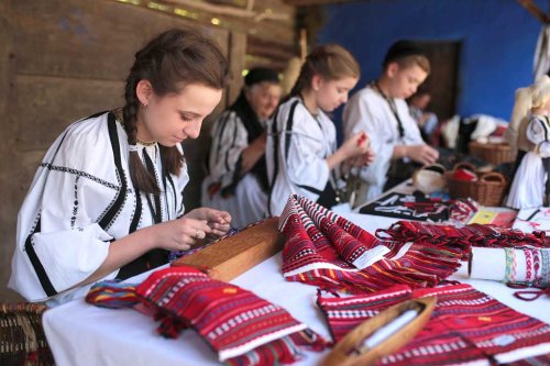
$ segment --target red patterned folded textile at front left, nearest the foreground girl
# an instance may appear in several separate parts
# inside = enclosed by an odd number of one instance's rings
[[[100,290],[87,300],[108,302]],[[156,270],[135,295],[160,322],[160,334],[177,337],[191,328],[229,365],[289,364],[300,358],[301,347],[322,351],[329,345],[285,309],[193,267]]]

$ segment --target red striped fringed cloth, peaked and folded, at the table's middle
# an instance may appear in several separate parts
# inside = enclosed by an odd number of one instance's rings
[[[287,280],[327,290],[364,293],[396,284],[432,287],[460,267],[466,247],[381,241],[344,218],[300,196],[290,196],[279,219],[286,237],[283,275]],[[382,259],[364,269],[352,262],[366,251],[384,245]],[[399,251],[406,252],[405,254]]]

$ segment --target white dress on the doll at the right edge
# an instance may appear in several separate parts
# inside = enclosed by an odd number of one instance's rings
[[[548,115],[529,117],[525,134],[521,160],[514,176],[514,181],[506,199],[506,206],[515,209],[527,209],[549,204],[550,197],[550,119]]]

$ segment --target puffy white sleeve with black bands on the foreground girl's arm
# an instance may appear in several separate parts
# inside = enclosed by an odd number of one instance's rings
[[[109,252],[112,236],[98,222],[120,184],[108,137],[103,145],[98,131],[85,132],[61,136],[48,149],[19,213],[9,286],[30,301],[81,282]]]

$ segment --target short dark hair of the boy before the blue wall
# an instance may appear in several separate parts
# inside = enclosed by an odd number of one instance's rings
[[[422,47],[409,40],[397,41],[389,47],[382,65],[386,69],[392,63],[396,63],[400,68],[416,65],[428,74],[431,70],[430,62]]]

